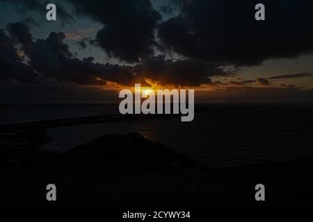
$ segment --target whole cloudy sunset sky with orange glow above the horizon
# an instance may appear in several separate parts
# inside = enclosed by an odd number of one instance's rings
[[[248,0],[0,0],[0,103],[112,102],[135,83],[312,102],[313,1],[260,2],[262,22]]]

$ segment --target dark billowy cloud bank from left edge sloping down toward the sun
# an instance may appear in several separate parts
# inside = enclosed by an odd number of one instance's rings
[[[132,67],[99,64],[93,58],[75,58],[64,43],[65,33],[51,32],[45,40],[36,40],[29,33],[29,26],[21,22],[8,24],[8,33],[0,29],[1,79],[21,83],[38,83],[40,78],[55,78],[79,85],[105,85],[106,81],[121,85],[146,83],[138,79]],[[17,45],[28,58],[28,65],[18,55]],[[41,79],[42,80],[42,79]]]

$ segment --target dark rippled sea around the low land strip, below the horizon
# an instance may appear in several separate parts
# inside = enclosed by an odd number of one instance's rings
[[[0,122],[115,114],[117,105],[1,108]],[[211,167],[280,162],[313,154],[313,108],[293,105],[208,105],[191,122],[180,118],[93,123],[47,130],[47,151],[66,151],[106,133],[141,133]],[[106,148],[104,144],[104,148]],[[149,147],[147,147],[149,148]]]

